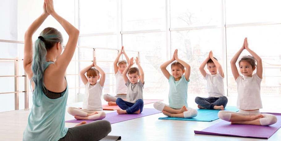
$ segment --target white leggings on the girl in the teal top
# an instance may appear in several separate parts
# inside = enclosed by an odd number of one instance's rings
[[[154,102],[153,106],[156,110],[161,111],[161,112],[162,112],[162,110],[164,109],[165,106],[170,107],[169,105],[164,104],[162,102]],[[176,109],[176,108],[173,108],[173,109]],[[176,110],[178,110],[178,109],[176,109]],[[184,116],[184,118],[196,117],[197,116],[197,110],[187,107],[187,111],[183,112],[183,116]]]

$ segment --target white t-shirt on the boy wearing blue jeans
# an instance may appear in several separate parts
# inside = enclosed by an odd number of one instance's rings
[[[206,74],[207,90],[209,97],[222,97],[224,96],[224,78],[217,74]]]

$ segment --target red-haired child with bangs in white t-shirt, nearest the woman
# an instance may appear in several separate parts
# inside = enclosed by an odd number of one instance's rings
[[[87,77],[85,73],[87,73]],[[105,118],[106,114],[103,111],[101,102],[105,73],[97,66],[96,57],[94,57],[93,64],[80,71],[80,77],[85,84],[85,98],[82,109],[69,107],[67,112],[77,120],[99,120]],[[99,79],[100,81],[98,81]]]

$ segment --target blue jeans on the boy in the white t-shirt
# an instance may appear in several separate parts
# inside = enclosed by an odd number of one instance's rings
[[[214,109],[214,106],[226,106],[228,100],[226,96],[223,97],[208,97],[208,98],[203,98],[203,97],[196,97],[195,102],[207,109]]]

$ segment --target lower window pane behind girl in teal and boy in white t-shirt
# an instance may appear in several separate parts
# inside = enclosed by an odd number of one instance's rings
[[[223,63],[221,40],[220,28],[171,32],[171,52],[178,49],[179,58],[191,66],[189,94],[207,94],[207,83],[199,71],[199,66],[207,58],[210,50],[219,62]]]

